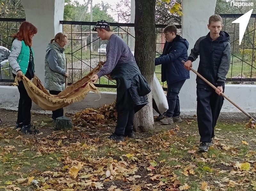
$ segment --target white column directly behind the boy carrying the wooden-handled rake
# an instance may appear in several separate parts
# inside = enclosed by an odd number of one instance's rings
[[[188,55],[194,47],[196,40],[205,36],[209,30],[207,24],[209,17],[214,14],[216,0],[182,0],[182,37],[189,42]],[[203,11],[202,11],[203,10]],[[193,62],[197,70],[199,58]],[[196,74],[190,71],[190,79],[186,80],[180,91],[180,111],[193,115],[196,112]]]

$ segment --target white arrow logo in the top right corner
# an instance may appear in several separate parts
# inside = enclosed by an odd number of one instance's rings
[[[252,11],[253,9],[232,22],[232,23],[239,23],[239,45],[241,45],[245,30],[247,28],[250,17],[252,15]]]

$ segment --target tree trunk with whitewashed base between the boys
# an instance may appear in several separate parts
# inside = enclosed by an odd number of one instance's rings
[[[156,0],[135,0],[134,57],[150,87],[153,83],[156,54],[155,5]],[[134,117],[134,131],[147,132],[154,128],[152,93],[148,94],[148,100],[149,103]]]

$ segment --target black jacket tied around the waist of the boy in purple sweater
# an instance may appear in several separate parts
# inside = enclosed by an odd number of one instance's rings
[[[148,104],[147,94],[151,89],[136,62],[117,64],[110,77],[115,79],[117,84],[117,112],[122,113],[134,108],[136,113]]]

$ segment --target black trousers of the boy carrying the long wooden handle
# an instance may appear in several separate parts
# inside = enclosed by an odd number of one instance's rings
[[[224,98],[214,91],[208,91],[202,88],[196,89],[196,95],[196,113],[198,130],[201,136],[200,142],[211,142],[212,137],[214,137],[214,128],[220,115]]]

